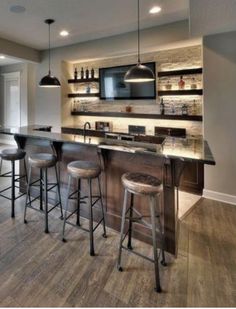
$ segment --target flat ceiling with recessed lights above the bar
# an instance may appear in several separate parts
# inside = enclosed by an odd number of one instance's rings
[[[22,5],[23,13],[13,13],[12,5]],[[162,11],[150,15],[160,5]],[[188,0],[140,0],[141,28],[167,24],[189,16]],[[52,47],[117,35],[137,29],[137,0],[1,0],[0,37],[43,50],[47,48],[46,18],[54,18]],[[66,29],[70,35],[62,38]]]

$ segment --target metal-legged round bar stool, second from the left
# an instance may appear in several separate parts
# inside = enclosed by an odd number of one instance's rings
[[[45,233],[49,233],[48,229],[48,214],[55,209],[57,206],[60,206],[61,211],[61,219],[63,219],[63,212],[62,212],[62,203],[61,203],[61,192],[60,192],[60,183],[57,171],[57,158],[55,155],[48,154],[48,153],[37,153],[32,154],[29,156],[29,175],[28,175],[28,185],[26,189],[26,201],[25,201],[25,211],[24,211],[24,223],[27,223],[26,220],[26,211],[27,208],[34,209],[36,211],[43,212],[45,214]],[[49,183],[48,182],[48,169],[54,167],[55,174],[56,174],[56,183]],[[31,182],[32,178],[32,168],[38,168],[40,170],[40,179]],[[39,185],[38,185],[39,182]],[[30,196],[30,189],[33,186],[40,187],[40,195],[35,197],[33,200]],[[48,192],[52,191],[54,188],[57,188],[58,194],[58,202],[54,204],[50,209],[48,207]],[[28,202],[29,198],[29,202]],[[40,209],[37,209],[32,206],[32,203],[39,198],[40,200]],[[44,207],[43,209],[43,201]]]

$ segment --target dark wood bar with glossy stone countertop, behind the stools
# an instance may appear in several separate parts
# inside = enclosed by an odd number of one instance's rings
[[[42,126],[36,125],[20,128],[0,128],[0,133],[13,135],[18,147],[25,149],[27,155],[36,152],[53,152],[57,155],[63,202],[67,185],[67,164],[74,160],[92,160],[101,163],[103,168],[101,181],[107,209],[107,225],[117,231],[120,229],[123,201],[122,174],[125,172],[143,172],[163,179],[164,203],[162,212],[165,249],[172,254],[177,254],[178,201],[175,188],[179,186],[185,162],[199,161],[203,164],[215,165],[215,160],[205,140],[166,137],[161,144],[151,144],[91,136],[84,138],[81,135],[45,132],[42,131],[43,129]],[[81,190],[82,194],[86,195],[86,183],[83,183],[83,181]],[[142,214],[149,215],[145,198],[137,197],[134,203]],[[75,203],[74,206],[72,203],[71,207],[75,207]],[[88,207],[82,205],[81,208],[81,215],[87,217]],[[99,214],[95,213],[94,217],[95,220],[98,220]],[[135,224],[134,237],[150,242],[149,234],[144,227],[138,224]]]

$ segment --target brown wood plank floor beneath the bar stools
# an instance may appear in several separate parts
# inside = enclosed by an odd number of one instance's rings
[[[0,199],[0,306],[185,307],[236,306],[236,207],[201,199],[181,222],[179,255],[161,267],[163,293],[154,291],[153,265],[124,252],[124,272],[116,269],[118,234],[95,237],[90,257],[88,234],[67,226],[61,241],[59,212],[50,216],[49,235],[43,216],[28,212],[24,198],[10,218],[9,201]],[[85,222],[86,224],[86,222]],[[134,241],[151,255],[152,248]]]

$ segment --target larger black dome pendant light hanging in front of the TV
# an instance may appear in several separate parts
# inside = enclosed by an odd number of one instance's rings
[[[140,5],[138,1],[138,63],[131,67],[125,74],[124,80],[127,83],[144,83],[155,80],[155,76],[150,68],[141,64],[140,60]]]

